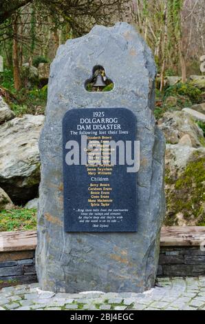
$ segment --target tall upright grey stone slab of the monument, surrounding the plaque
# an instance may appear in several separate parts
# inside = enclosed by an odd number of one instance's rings
[[[85,91],[85,81],[96,65],[105,68],[114,90]],[[165,210],[164,136],[153,115],[155,72],[151,50],[127,23],[96,26],[58,49],[39,142],[36,269],[43,290],[143,292],[154,285]],[[138,232],[64,232],[62,120],[69,109],[94,107],[124,107],[136,114]]]

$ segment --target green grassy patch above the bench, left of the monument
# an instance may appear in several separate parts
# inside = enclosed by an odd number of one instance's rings
[[[0,212],[0,232],[35,230],[36,210],[17,208]]]

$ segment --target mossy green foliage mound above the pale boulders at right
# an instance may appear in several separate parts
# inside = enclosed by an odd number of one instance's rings
[[[191,100],[192,103],[198,103],[200,101],[202,92],[195,88],[191,83],[177,83],[175,85],[171,85],[169,88],[165,90],[164,98],[166,99],[169,96],[177,97],[186,96]]]

